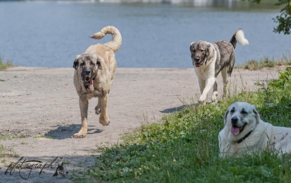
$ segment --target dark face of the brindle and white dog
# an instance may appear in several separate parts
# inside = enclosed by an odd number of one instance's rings
[[[194,67],[205,65],[210,52],[210,44],[206,42],[193,42],[190,46],[191,58]]]

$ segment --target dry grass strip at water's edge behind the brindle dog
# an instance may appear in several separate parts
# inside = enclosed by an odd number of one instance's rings
[[[263,56],[260,60],[252,59],[245,62],[242,66],[238,66],[236,68],[246,70],[260,70],[264,67],[272,68],[281,65],[291,65],[291,56],[284,56],[283,58],[278,58],[277,60],[274,58],[270,59],[268,56]]]

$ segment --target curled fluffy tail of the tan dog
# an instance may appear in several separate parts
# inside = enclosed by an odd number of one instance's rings
[[[112,40],[110,42],[105,43],[104,45],[110,47],[113,50],[113,52],[118,51],[122,43],[122,38],[119,30],[113,26],[107,26],[105,28],[102,28],[100,32],[93,34],[91,38],[99,40],[103,38],[106,34],[111,34]]]

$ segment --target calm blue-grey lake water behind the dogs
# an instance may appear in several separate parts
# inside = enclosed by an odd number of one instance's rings
[[[19,66],[72,67],[105,26],[122,34],[117,67],[190,68],[190,43],[229,40],[242,28],[247,46],[237,45],[238,65],[261,56],[291,53],[291,35],[273,32],[272,3],[235,0],[0,1],[0,56]],[[263,0],[264,1],[264,0]]]

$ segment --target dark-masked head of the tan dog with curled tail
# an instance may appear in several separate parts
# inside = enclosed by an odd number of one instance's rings
[[[98,69],[102,70],[99,58],[89,53],[76,56],[73,68],[81,75],[83,86],[86,89],[94,84]]]

